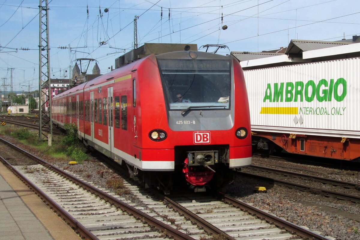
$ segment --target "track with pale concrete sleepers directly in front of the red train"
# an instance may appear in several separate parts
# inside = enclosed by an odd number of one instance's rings
[[[227,239],[328,239],[229,195],[172,196],[165,201],[199,227]]]

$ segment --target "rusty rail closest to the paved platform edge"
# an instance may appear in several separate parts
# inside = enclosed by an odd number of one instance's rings
[[[46,195],[42,190],[39,189],[35,184],[33,184],[27,177],[22,175],[17,169],[10,165],[3,157],[0,156],[0,161],[10,169],[25,185],[27,185],[30,190],[37,194],[49,207],[61,216],[65,222],[67,222],[75,231],[77,231],[82,237],[89,240],[99,240],[94,234],[92,234],[86,227],[84,227],[80,222],[78,222],[74,217],[72,217],[65,209],[63,209],[59,204],[52,200],[48,195]]]

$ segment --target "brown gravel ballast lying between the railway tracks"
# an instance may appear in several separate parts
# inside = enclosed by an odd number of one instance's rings
[[[61,169],[77,173],[86,179],[86,181],[96,183],[98,186],[108,189],[107,180],[117,177],[117,173],[94,157],[89,156],[90,159],[86,160],[84,164],[69,165],[68,161],[50,158],[37,150],[21,144],[10,136],[0,136]],[[293,168],[304,168],[300,166],[301,164],[284,161],[277,162],[277,160],[258,157],[253,157],[253,164],[266,167],[276,164]],[[289,168],[285,170],[291,171]],[[298,170],[294,171],[300,172]],[[349,174],[347,171],[338,169],[335,171],[334,169],[318,166],[309,166],[309,171],[317,172],[318,176],[322,177],[360,183],[359,173],[356,172]],[[303,173],[306,173],[306,171]],[[255,186],[265,186],[267,192],[255,193]],[[306,226],[312,231],[319,231],[322,233],[321,235],[334,237],[338,240],[360,239],[360,222],[356,220],[356,217],[360,216],[359,204],[336,199],[323,199],[324,197],[315,194],[269,184],[255,178],[240,178],[239,176],[228,187],[227,193],[296,225]],[[123,197],[142,205],[141,201],[134,198],[131,194],[124,194]]]

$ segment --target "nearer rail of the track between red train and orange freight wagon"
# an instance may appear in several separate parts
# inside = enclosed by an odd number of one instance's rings
[[[280,185],[302,188],[303,190],[308,190],[315,194],[322,193],[324,196],[333,196],[337,199],[350,200],[350,201],[360,203],[360,196],[350,195],[350,194],[346,194],[346,193],[338,193],[336,191],[330,191],[330,190],[325,190],[325,189],[321,189],[321,188],[317,188],[317,187],[310,187],[310,186],[306,186],[306,185],[296,184],[293,182],[287,182],[287,181],[283,181],[283,180],[279,180],[279,179],[275,179],[275,178],[271,178],[271,177],[264,177],[264,176],[256,175],[253,173],[247,173],[247,172],[238,172],[238,173],[242,174],[242,175],[251,176],[251,177],[261,177],[266,180],[274,181]]]

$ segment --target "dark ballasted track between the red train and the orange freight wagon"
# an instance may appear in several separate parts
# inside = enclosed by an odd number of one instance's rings
[[[310,191],[315,194],[322,194],[340,200],[350,200],[355,203],[360,203],[360,184],[352,182],[333,180],[256,165],[243,168],[239,174],[256,177],[260,176],[280,185],[297,188],[302,191]]]

